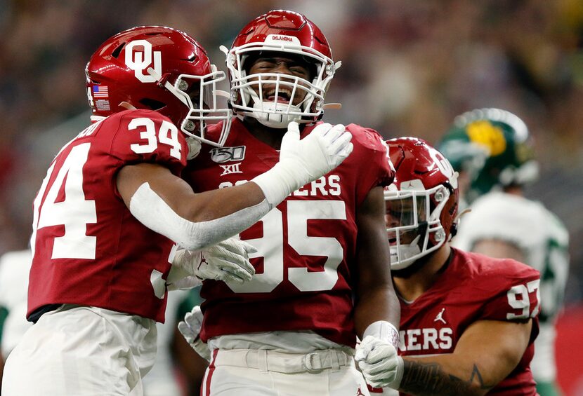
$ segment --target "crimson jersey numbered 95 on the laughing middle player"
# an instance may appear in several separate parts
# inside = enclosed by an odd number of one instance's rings
[[[302,137],[312,129],[304,128]],[[355,345],[356,210],[372,188],[392,182],[394,171],[377,132],[353,124],[346,129],[353,134],[351,156],[240,234],[258,249],[251,255],[253,279],[243,285],[204,281],[203,340],[313,330],[336,343]],[[235,119],[225,146],[203,146],[184,178],[195,192],[235,186],[273,168],[278,158],[279,151]]]

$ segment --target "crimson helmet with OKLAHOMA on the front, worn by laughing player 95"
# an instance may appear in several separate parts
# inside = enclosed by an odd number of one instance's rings
[[[287,128],[291,121],[313,123],[321,118],[326,90],[340,62],[334,63],[326,37],[304,15],[270,11],[249,22],[230,50],[224,46],[221,50],[227,55],[230,101],[235,113],[257,118],[271,128]],[[291,74],[249,74],[250,64],[246,61],[262,51],[301,56],[313,67],[312,81]],[[275,92],[263,97],[263,87],[267,84],[275,86]],[[294,97],[304,93],[303,100],[294,104]]]

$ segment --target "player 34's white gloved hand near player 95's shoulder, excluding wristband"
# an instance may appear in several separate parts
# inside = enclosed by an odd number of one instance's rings
[[[322,123],[300,139],[299,125],[289,123],[282,139],[280,161],[294,161],[297,169],[317,179],[342,163],[353,151],[352,134],[344,125]]]

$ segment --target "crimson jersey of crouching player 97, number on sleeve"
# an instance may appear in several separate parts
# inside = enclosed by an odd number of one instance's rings
[[[536,395],[530,372],[540,308],[539,272],[511,259],[492,259],[452,247],[450,264],[412,303],[401,300],[400,355],[453,353],[461,334],[478,320],[532,318],[522,360],[488,395]]]

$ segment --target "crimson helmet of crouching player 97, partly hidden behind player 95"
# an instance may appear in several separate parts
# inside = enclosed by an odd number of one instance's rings
[[[399,270],[437,250],[455,234],[457,172],[432,146],[416,137],[390,139],[395,180],[385,189],[391,268]]]

